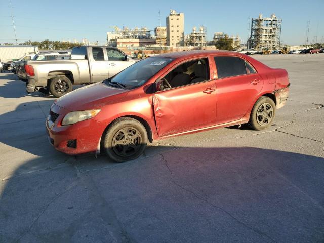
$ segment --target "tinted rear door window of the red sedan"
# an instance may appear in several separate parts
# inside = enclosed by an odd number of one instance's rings
[[[247,74],[245,61],[239,57],[214,57],[218,78]]]

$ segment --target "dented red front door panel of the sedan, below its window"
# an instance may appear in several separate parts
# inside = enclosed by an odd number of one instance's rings
[[[213,91],[206,93],[208,89]],[[153,107],[158,136],[215,125],[216,93],[214,80],[155,93]]]

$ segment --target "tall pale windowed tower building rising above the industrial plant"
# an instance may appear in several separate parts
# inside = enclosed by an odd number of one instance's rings
[[[167,46],[183,46],[184,39],[184,14],[170,11],[167,17]]]

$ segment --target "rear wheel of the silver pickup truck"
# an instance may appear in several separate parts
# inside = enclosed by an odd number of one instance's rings
[[[72,91],[72,82],[66,76],[56,76],[49,80],[47,89],[59,98]]]

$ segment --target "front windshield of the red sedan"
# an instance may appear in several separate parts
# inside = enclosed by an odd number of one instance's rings
[[[129,89],[137,88],[147,82],[159,70],[167,66],[172,58],[149,57],[119,72],[110,81]]]

